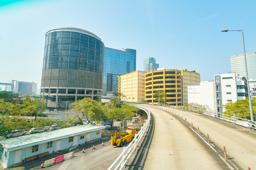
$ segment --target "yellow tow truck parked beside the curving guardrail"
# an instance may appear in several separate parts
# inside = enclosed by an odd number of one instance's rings
[[[129,126],[125,133],[115,132],[115,136],[111,136],[111,145],[117,144],[118,146],[122,146],[130,141],[132,141],[135,137],[135,134],[138,133],[138,127]]]

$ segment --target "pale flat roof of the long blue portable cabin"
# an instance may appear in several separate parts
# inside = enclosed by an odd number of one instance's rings
[[[31,134],[26,136],[13,137],[0,141],[8,151],[18,150],[24,147],[33,146],[36,144],[43,144],[59,139],[63,139],[70,136],[77,136],[84,133],[89,133],[95,130],[104,129],[105,127],[100,125],[81,125],[76,127],[67,127],[58,130],[52,130],[48,132],[42,132],[37,134]]]

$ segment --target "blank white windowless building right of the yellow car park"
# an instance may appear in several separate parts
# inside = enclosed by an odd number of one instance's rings
[[[212,111],[216,111],[216,92],[214,81],[201,81],[200,85],[188,85],[187,89],[188,103],[207,105]]]

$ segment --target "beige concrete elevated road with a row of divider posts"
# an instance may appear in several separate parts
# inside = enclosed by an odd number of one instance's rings
[[[256,169],[255,131],[201,114],[160,106],[174,112],[174,115],[176,113],[177,117],[179,115],[178,119],[156,107],[148,107],[155,117],[155,130],[144,158],[137,165],[138,169]],[[187,119],[190,125],[193,123],[193,130],[180,120],[182,117],[184,122]],[[197,134],[198,127],[200,135]],[[202,140],[207,134],[211,144]],[[228,161],[221,157],[223,146],[226,147]]]

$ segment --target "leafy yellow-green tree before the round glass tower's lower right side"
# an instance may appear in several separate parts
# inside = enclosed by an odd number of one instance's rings
[[[75,113],[69,120],[82,122],[83,117],[90,120],[101,120],[103,117],[102,102],[96,102],[91,98],[83,98],[70,104],[70,109]]]

